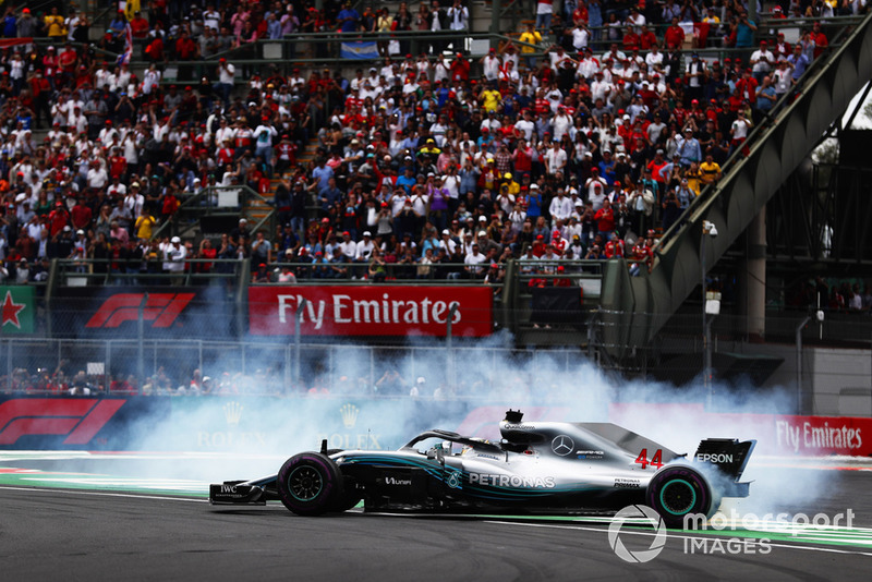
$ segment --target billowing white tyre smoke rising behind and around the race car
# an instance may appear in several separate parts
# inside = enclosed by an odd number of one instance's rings
[[[525,411],[528,420],[619,419],[626,428],[692,454],[707,437],[759,437],[759,421],[752,414],[789,411],[792,402],[786,391],[716,383],[708,407],[701,383],[677,388],[614,379],[580,352],[514,352],[507,350],[509,340],[501,334],[474,342],[455,340],[453,356],[444,343],[423,339],[404,350],[383,350],[389,356],[365,348],[334,347],[332,353],[319,349],[317,356],[303,359],[304,372],[310,385],[326,387],[329,395],[180,397],[170,417],[144,423],[131,446],[214,454],[148,468],[165,477],[255,478],[275,473],[296,452],[316,450],[323,438],[330,448],[396,449],[421,431],[461,425],[471,427],[473,436],[498,438],[497,423],[511,408]],[[272,360],[257,362],[246,355],[247,369],[275,365]],[[401,388],[392,392],[383,383],[376,389],[374,385],[391,371],[402,378]],[[210,376],[221,372],[220,366],[204,369]],[[419,385],[419,378],[425,381]],[[416,398],[410,396],[413,385],[419,388]],[[343,390],[348,393],[337,393]],[[437,390],[441,397],[434,398]],[[238,425],[229,425],[227,407],[241,408]],[[488,414],[471,421],[469,412],[476,407],[487,407]],[[713,424],[705,412],[731,414]],[[797,487],[794,472],[770,468],[758,454],[752,456],[744,478],[754,481],[751,497],[730,501],[730,507],[762,514],[786,507],[799,510],[798,505],[825,490],[829,476],[806,471],[802,487]]]

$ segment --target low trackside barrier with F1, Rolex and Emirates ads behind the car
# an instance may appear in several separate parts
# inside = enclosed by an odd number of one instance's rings
[[[252,451],[396,449],[429,428],[498,439],[506,404],[353,397],[0,397],[0,449]],[[514,405],[514,408],[518,408]],[[521,407],[525,423],[602,420],[666,446],[758,439],[756,453],[872,456],[872,419],[707,413],[703,404],[613,403],[584,414],[562,404]],[[677,428],[678,427],[678,428]]]

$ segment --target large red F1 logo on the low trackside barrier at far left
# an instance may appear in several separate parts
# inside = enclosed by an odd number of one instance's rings
[[[0,404],[0,445],[25,435],[66,435],[64,445],[87,445],[124,405],[123,399],[16,398]]]

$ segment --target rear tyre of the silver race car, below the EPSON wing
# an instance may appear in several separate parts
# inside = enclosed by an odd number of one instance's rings
[[[685,528],[686,516],[710,518],[717,510],[708,482],[685,465],[667,466],[654,475],[645,490],[645,504],[661,514],[668,528],[677,529]],[[689,520],[688,526],[694,524],[695,520]]]

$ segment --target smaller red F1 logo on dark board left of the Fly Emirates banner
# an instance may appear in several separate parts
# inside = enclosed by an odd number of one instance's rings
[[[118,293],[102,302],[85,327],[116,328],[124,322],[140,318],[140,305],[145,293]],[[194,293],[148,293],[143,319],[152,327],[169,327],[194,299]]]

